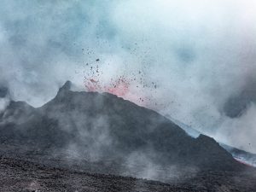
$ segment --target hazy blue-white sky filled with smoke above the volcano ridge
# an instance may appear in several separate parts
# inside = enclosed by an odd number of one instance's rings
[[[12,99],[39,107],[71,80],[256,153],[256,2],[3,0],[0,13]]]

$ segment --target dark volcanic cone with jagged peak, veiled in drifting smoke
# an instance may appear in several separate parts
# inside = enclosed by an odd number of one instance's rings
[[[41,108],[10,102],[0,114],[0,142],[89,161],[241,168],[211,137],[189,137],[159,113],[108,93],[71,91],[70,86],[67,81]]]

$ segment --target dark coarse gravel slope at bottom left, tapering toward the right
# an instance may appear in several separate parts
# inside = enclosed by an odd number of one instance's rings
[[[169,184],[132,177],[72,172],[26,160],[0,159],[0,190],[9,191],[180,191]],[[188,190],[183,190],[188,191]]]

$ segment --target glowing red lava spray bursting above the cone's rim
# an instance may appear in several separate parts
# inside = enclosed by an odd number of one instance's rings
[[[142,71],[116,76],[106,82],[102,78],[104,71],[101,70],[99,64],[89,65],[87,63],[86,68],[87,70],[84,70],[84,86],[87,91],[108,92],[144,107],[153,105],[152,96],[145,96],[146,91],[144,90],[155,91],[157,86],[154,82],[147,82]]]

